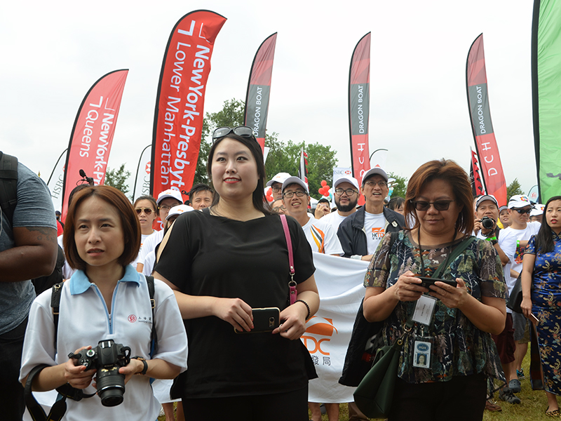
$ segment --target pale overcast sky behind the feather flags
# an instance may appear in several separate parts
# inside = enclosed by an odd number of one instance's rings
[[[409,178],[431,159],[468,169],[474,147],[466,57],[483,32],[489,105],[506,182],[536,184],[530,0],[4,1],[0,6],[0,149],[47,179],[68,146],[84,95],[129,69],[109,167],[136,171],[151,143],[164,48],[175,22],[208,9],[228,20],[215,41],[205,112],[245,100],[262,41],[278,32],[269,133],[321,142],[350,166],[348,82],[353,48],[372,32],[370,152]],[[332,2],[332,4],[335,4]],[[271,175],[272,176],[272,175]],[[131,178],[131,182],[134,182]],[[132,189],[132,185],[130,186]]]

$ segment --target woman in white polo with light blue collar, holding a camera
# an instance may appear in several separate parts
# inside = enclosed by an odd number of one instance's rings
[[[70,205],[64,241],[69,264],[79,270],[62,286],[58,333],[51,291],[34,301],[22,353],[22,384],[34,367],[45,364],[33,378],[33,390],[69,383],[91,394],[96,368],[86,369],[68,355],[114,340],[130,347],[133,356],[116,374],[126,384],[122,403],[103,406],[98,396],[67,399],[65,420],[155,420],[160,406],[149,377],[173,378],[187,368],[187,338],[172,290],[154,282],[153,313],[147,281],[130,265],[140,246],[133,206],[113,187],[82,189]],[[150,357],[153,329],[157,345]]]

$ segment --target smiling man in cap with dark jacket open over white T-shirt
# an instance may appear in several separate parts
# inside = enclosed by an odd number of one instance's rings
[[[386,171],[371,168],[365,173],[360,188],[365,206],[346,218],[337,231],[345,258],[370,261],[384,234],[405,227],[403,215],[384,206],[388,191]]]

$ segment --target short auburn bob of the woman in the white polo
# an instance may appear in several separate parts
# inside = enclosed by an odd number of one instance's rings
[[[106,201],[116,208],[117,213],[121,217],[121,225],[123,227],[123,237],[125,248],[123,254],[119,256],[117,262],[123,267],[135,260],[140,250],[140,222],[135,212],[135,208],[120,190],[102,185],[88,186],[81,189],[74,195],[74,199],[68,208],[65,223],[65,236],[62,238],[65,246],[66,260],[70,267],[74,269],[86,270],[86,262],[82,260],[76,248],[74,234],[76,232],[75,221],[76,211],[83,201],[90,197],[97,197]]]

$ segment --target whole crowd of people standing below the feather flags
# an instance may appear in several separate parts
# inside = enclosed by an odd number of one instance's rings
[[[405,198],[388,201],[388,175],[372,168],[360,184],[334,181],[333,208],[311,208],[300,178],[267,180],[251,128],[217,128],[212,140],[212,185],[194,185],[187,203],[175,189],[130,203],[81,185],[60,235],[40,178],[15,161],[15,177],[0,179],[17,199],[0,198],[7,420],[22,419],[24,387],[57,389],[67,420],[156,420],[162,409],[166,421],[304,421],[309,410],[318,421],[323,408],[338,420],[339,403],[309,402],[317,374],[300,338],[320,306],[313,253],[370,262],[341,382],[365,375],[365,349],[403,340],[389,420],[480,420],[501,410],[496,390],[520,403],[530,335],[546,415],[560,416],[561,196],[501,207],[441,159],[412,174]],[[65,281],[36,292],[31,279],[58,273],[58,253]],[[522,313],[506,307],[517,279]],[[349,420],[368,418],[350,402]]]

